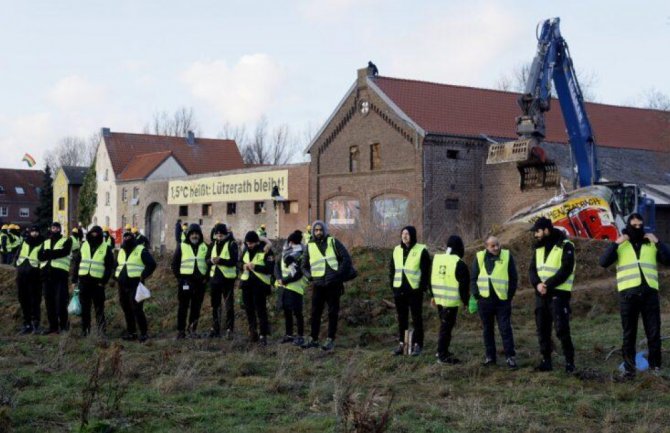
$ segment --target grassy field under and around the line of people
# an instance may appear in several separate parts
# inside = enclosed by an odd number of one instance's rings
[[[578,256],[601,249],[578,247]],[[554,372],[533,372],[538,362],[534,299],[525,287],[513,312],[519,370],[481,366],[479,319],[465,312],[452,344],[464,362],[444,366],[435,362],[438,322],[427,302],[424,354],[390,355],[395,311],[383,302],[392,301],[389,254],[355,252],[360,276],[342,300],[333,353],[278,344],[283,318],[276,313],[270,345],[249,344],[239,308],[234,340],[175,341],[176,288],[165,259],[149,284],[155,297],[146,307],[152,336],[146,344],[118,339],[123,319],[114,288],[107,290],[109,340],[80,338],[77,318],[65,335],[17,336],[13,273],[2,269],[0,431],[670,431],[667,373],[621,382],[620,353],[607,359],[621,344],[612,274],[593,270],[596,279],[586,280],[584,271],[577,276],[572,321],[577,374],[562,371],[558,354]],[[524,276],[521,249],[518,256]],[[663,287],[670,287],[668,280],[664,275]],[[208,303],[203,331],[211,323]],[[662,309],[668,335],[667,299]],[[667,359],[667,351],[664,355]]]

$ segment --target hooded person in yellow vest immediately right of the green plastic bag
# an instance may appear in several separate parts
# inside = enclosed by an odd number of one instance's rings
[[[91,304],[95,308],[98,332],[105,334],[105,286],[114,273],[114,253],[104,242],[102,228],[93,226],[86,233],[80,253],[72,259],[72,285],[79,286],[81,334],[91,332]]]

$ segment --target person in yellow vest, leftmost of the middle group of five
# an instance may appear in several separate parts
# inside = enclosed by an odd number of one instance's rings
[[[205,287],[209,275],[207,265],[207,244],[202,236],[202,230],[198,224],[191,224],[186,232],[186,241],[177,245],[172,256],[172,273],[177,278],[177,298],[179,307],[177,309],[177,339],[186,337],[188,329],[189,336],[197,338],[198,320],[200,319],[200,308],[205,298]],[[188,317],[188,328],[186,316]]]

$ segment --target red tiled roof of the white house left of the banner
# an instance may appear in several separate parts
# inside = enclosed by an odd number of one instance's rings
[[[111,132],[103,139],[117,177],[138,155],[164,152],[171,152],[188,174],[244,168],[242,155],[233,140],[196,138],[195,144],[189,145],[185,137],[121,132]],[[155,157],[141,158],[133,170],[141,171],[140,168],[145,168],[144,164],[148,164],[147,159],[155,162],[152,158]]]

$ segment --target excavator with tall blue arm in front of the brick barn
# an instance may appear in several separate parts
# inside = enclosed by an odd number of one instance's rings
[[[573,165],[573,187],[591,188],[596,197],[607,197],[610,207],[610,223],[616,226],[616,232],[628,215],[639,212],[646,217],[645,228],[654,229],[655,204],[644,197],[637,185],[621,182],[603,182],[597,158],[597,145],[591,122],[584,104],[582,90],[570,57],[565,39],[561,36],[560,19],[544,21],[538,35],[537,53],[528,74],[524,93],[518,104],[522,114],[516,118],[516,131],[519,139],[506,143],[496,143],[489,147],[487,164],[516,163],[521,175],[521,190],[534,188],[556,188],[561,177],[556,163],[548,158],[541,147],[545,138],[545,113],[551,109],[552,82],[561,106],[563,120],[568,132]],[[604,190],[594,185],[603,185]],[[566,201],[567,195],[555,197],[546,205],[556,206]],[[538,210],[546,206],[533,206]],[[525,212],[528,212],[526,210]],[[572,209],[578,211],[579,209]],[[600,212],[601,213],[601,212]],[[588,215],[587,215],[588,214]],[[583,216],[568,216],[566,226],[568,234],[579,237],[610,239],[613,230],[605,227],[601,221],[594,221],[593,212]],[[518,219],[518,215],[515,216]],[[513,219],[515,219],[513,217]],[[595,218],[597,220],[597,218]],[[609,224],[609,223],[608,223]],[[600,225],[600,227],[596,227]]]

